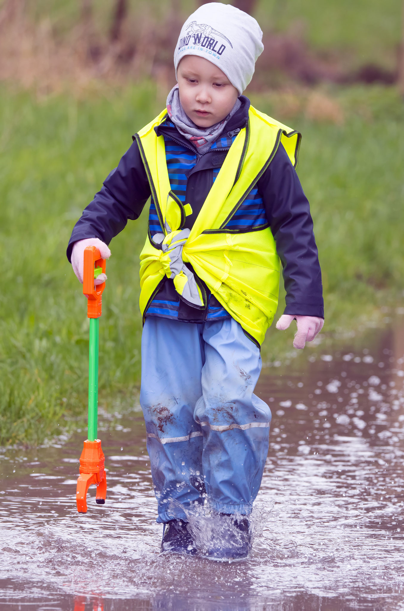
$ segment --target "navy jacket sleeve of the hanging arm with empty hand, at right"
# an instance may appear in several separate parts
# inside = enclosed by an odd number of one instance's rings
[[[309,202],[280,144],[258,181],[283,265],[285,314],[324,318],[321,269]]]

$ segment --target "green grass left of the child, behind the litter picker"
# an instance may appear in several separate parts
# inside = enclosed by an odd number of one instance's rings
[[[40,442],[84,413],[88,320],[65,257],[82,209],[153,115],[146,87],[113,100],[1,95],[0,439]],[[151,97],[151,102],[150,102]],[[114,240],[101,319],[100,395],[139,381],[139,250],[146,218]],[[130,399],[129,399],[130,400]],[[13,425],[12,425],[13,423]]]

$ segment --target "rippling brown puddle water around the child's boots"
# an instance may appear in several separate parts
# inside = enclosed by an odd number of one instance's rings
[[[270,450],[246,562],[160,555],[142,414],[102,420],[107,501],[75,504],[85,431],[0,453],[0,608],[404,609],[404,327],[263,370]],[[279,373],[278,373],[279,372]],[[269,375],[270,373],[270,375]]]

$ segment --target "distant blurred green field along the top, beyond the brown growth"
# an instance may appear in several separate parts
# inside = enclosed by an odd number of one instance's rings
[[[0,1],[0,6],[5,0]],[[198,6],[196,0],[129,0],[128,28],[137,31],[139,21],[157,21],[170,27],[173,13],[186,18]],[[77,0],[35,0],[27,9],[35,20],[49,18],[57,32],[66,33],[77,23]],[[106,32],[113,11],[112,0],[97,0],[93,16],[99,32]],[[391,67],[396,62],[402,35],[401,0],[258,0],[254,17],[263,31],[288,31],[298,26],[309,45],[325,53],[340,53],[353,65],[374,62]],[[167,49],[171,55],[171,49]]]

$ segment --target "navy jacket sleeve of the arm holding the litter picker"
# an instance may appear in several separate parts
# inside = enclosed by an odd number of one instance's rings
[[[123,230],[128,219],[139,218],[149,197],[150,186],[139,147],[137,142],[133,142],[74,225],[67,247],[69,262],[74,242],[99,238],[109,244]]]

